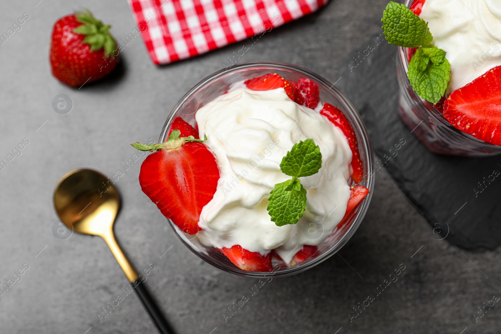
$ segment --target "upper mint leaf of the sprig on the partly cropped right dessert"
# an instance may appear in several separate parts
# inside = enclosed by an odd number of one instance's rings
[[[433,37],[428,23],[407,7],[390,2],[383,12],[383,34],[389,44],[404,48],[430,47]]]

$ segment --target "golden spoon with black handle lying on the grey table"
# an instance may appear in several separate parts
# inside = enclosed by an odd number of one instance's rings
[[[73,231],[99,235],[106,241],[158,330],[171,334],[172,329],[143,284],[140,284],[139,275],[115,239],[113,223],[120,209],[120,195],[115,186],[103,174],[94,170],[72,170],[56,185],[54,207],[61,221]]]

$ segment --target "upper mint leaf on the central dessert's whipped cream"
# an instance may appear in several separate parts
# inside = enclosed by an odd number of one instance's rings
[[[282,172],[294,177],[316,174],[321,167],[322,154],[320,153],[320,147],[315,145],[313,139],[294,144],[280,163]]]

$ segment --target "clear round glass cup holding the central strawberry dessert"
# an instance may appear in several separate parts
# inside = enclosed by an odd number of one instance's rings
[[[341,228],[335,230],[332,235],[328,236],[318,245],[320,254],[317,257],[305,260],[293,267],[288,267],[284,262],[274,259],[272,264],[275,269],[271,272],[241,270],[214,247],[208,247],[200,243],[196,238],[196,234],[189,235],[182,232],[170,219],[167,219],[181,241],[204,261],[224,271],[255,278],[288,276],[299,273],[321,263],[335,254],[355,233],[362,222],[369,207],[372,190],[374,188],[372,146],[367,130],[353,105],[336,87],[325,79],[308,70],[290,64],[276,62],[243,63],[229,70],[220,70],[208,76],[186,93],[167,116],[159,142],[165,142],[167,140],[170,124],[175,117],[182,117],[186,122],[194,125],[195,113],[198,108],[226,92],[231,84],[275,72],[290,81],[297,82],[299,78],[304,77],[315,81],[319,85],[322,101],[336,106],[345,114],[353,126],[359,143],[358,148],[364,169],[364,178],[359,184],[368,188],[370,193],[354,210],[348,222]],[[312,110],[312,112],[314,111]],[[302,232],[310,240],[317,240],[322,236],[325,237],[324,233],[327,233],[327,231],[320,229],[321,228],[304,228]]]

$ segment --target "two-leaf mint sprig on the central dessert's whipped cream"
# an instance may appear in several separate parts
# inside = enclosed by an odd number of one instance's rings
[[[268,198],[268,213],[277,226],[296,224],[306,209],[306,189],[299,177],[318,173],[322,167],[320,147],[313,139],[294,144],[280,163],[280,169],[292,179],[277,183]]]

